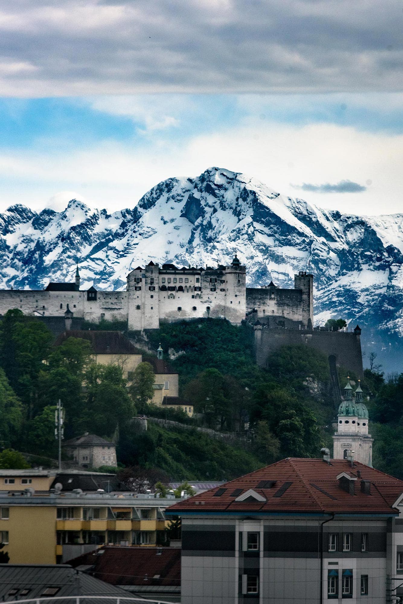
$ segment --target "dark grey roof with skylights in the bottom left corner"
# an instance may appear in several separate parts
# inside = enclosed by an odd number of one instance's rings
[[[62,564],[0,564],[0,599],[24,600],[37,598],[47,587],[59,588],[59,596],[128,596],[127,591],[81,573],[75,568]],[[16,594],[9,596],[13,589]],[[19,595],[22,590],[30,590],[27,595]],[[46,596],[45,596],[46,597]],[[54,602],[48,597],[49,602]],[[56,600],[57,601],[57,600]],[[94,604],[103,604],[104,600],[86,600]]]

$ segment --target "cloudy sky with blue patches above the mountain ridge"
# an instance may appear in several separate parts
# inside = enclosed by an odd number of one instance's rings
[[[0,211],[216,165],[401,212],[402,25],[395,0],[0,0]]]

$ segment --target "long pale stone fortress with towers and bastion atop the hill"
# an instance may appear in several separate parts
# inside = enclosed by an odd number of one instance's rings
[[[44,290],[1,290],[0,315],[20,309],[46,321],[57,318],[99,323],[118,320],[129,331],[158,329],[160,321],[226,318],[230,323],[248,321],[255,329],[256,362],[264,367],[270,352],[283,344],[306,344],[322,350],[329,361],[361,376],[360,333],[329,332],[313,328],[313,275],[294,275],[294,289],[281,289],[273,281],[261,288],[246,287],[246,267],[236,257],[217,268],[177,268],[148,263],[127,275],[125,291],[80,290],[74,283],[49,283]],[[77,324],[78,321],[78,324]],[[48,321],[46,321],[48,322]]]

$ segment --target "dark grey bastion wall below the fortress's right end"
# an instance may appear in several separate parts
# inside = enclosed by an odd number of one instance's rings
[[[363,379],[360,336],[352,332],[255,328],[255,354],[259,367],[266,367],[268,356],[281,346],[304,344],[326,356],[334,355],[336,364],[354,371]]]

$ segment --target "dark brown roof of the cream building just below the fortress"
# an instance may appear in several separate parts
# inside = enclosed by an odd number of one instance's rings
[[[141,355],[141,352],[121,332],[85,329],[70,330],[62,333],[54,345],[60,346],[68,338],[88,340],[96,355]]]

